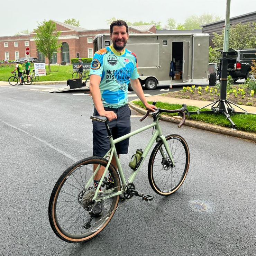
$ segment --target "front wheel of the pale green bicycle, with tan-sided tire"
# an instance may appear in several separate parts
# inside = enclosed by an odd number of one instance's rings
[[[172,152],[175,166],[167,155],[162,140],[154,147],[148,163],[148,180],[151,188],[159,195],[170,195],[184,182],[189,170],[190,153],[186,141],[176,134],[165,136]],[[167,158],[164,158],[161,149]]]

